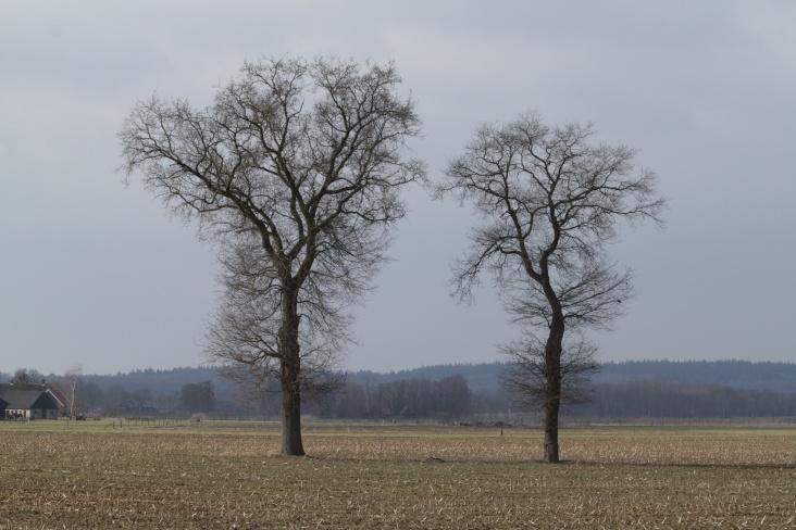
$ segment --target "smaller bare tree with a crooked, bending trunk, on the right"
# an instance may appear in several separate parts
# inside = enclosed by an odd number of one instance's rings
[[[632,272],[619,270],[607,248],[619,240],[622,219],[662,225],[666,205],[655,174],[636,169],[636,151],[594,144],[594,134],[590,125],[548,126],[535,112],[505,125],[483,125],[464,154],[449,162],[437,188],[438,197],[470,203],[481,219],[457,263],[455,294],[470,300],[487,269],[513,320],[528,336],[546,333],[508,351],[530,367],[525,383],[514,377],[510,386],[544,403],[545,460],[550,463],[559,460],[564,376],[588,371],[583,362],[594,355],[593,346],[581,341],[565,349],[564,333],[609,329],[623,313],[622,301],[634,294]],[[575,377],[569,387],[577,382]]]

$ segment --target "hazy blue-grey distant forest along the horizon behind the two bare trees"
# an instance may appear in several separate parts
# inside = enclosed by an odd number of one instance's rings
[[[397,373],[356,371],[336,393],[307,404],[321,417],[440,419],[522,413],[501,387],[502,363],[436,365]],[[0,373],[0,381],[10,381]],[[50,375],[58,384],[62,377]],[[592,418],[796,418],[796,363],[633,361],[606,363],[592,401],[565,411]],[[244,391],[212,367],[84,375],[80,406],[103,415],[273,417],[278,391]]]

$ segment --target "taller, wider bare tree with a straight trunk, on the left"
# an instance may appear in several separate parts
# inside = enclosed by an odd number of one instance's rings
[[[399,84],[393,64],[261,59],[204,110],[139,102],[119,135],[127,175],[141,171],[169,207],[199,217],[202,235],[223,242],[232,283],[240,270],[254,275],[239,279],[239,292],[226,286],[215,329],[229,332],[211,332],[209,353],[226,361],[225,338],[246,343],[258,330],[251,357],[231,361],[278,378],[285,454],[304,452],[308,355],[334,343],[320,339],[329,327],[319,323],[346,321],[344,308],[372,286],[405,216],[399,189],[425,178],[405,154],[421,122]],[[258,364],[263,356],[273,363]]]

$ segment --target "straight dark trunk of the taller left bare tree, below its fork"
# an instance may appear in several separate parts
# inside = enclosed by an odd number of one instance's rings
[[[301,356],[299,345],[298,288],[283,282],[279,342],[282,366],[282,454],[302,456],[301,442]]]

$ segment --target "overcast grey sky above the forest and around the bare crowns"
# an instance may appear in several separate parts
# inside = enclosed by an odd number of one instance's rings
[[[246,59],[325,53],[396,62],[432,178],[531,109],[640,149],[669,227],[613,249],[640,294],[604,361],[796,361],[796,2],[20,1],[0,3],[0,371],[200,364],[213,249],[123,186],[115,134],[156,90],[203,106]],[[448,296],[468,212],[407,199],[347,367],[498,359],[515,330],[492,290]]]

